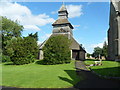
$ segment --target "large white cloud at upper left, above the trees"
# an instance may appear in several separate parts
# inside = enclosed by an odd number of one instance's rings
[[[45,13],[33,15],[28,7],[18,3],[1,2],[0,15],[6,16],[11,20],[18,20],[27,30],[40,30],[38,26],[44,26],[54,22],[54,19]]]

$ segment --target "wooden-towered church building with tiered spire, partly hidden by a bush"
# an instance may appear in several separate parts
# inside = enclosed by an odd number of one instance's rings
[[[73,37],[74,27],[68,21],[68,11],[67,11],[64,4],[59,9],[58,19],[52,24],[52,26],[53,26],[52,35],[64,34],[64,35],[67,35],[67,37],[69,39],[71,39],[71,41],[72,41],[72,44],[70,46],[70,48],[71,48],[71,59],[85,60],[86,51]],[[44,41],[39,47],[39,59],[44,58],[44,52],[42,51],[42,48],[44,47],[44,44],[46,43],[46,41]]]

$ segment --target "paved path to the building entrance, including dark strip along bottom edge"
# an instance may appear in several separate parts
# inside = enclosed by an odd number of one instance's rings
[[[109,80],[103,79],[98,77],[97,75],[93,74],[92,72],[88,71],[83,61],[76,61],[75,62],[76,72],[78,75],[82,76],[84,79],[78,82],[74,87],[71,88],[61,88],[61,89],[35,89],[35,88],[14,88],[14,87],[2,87],[2,90],[82,90],[84,88],[108,88],[113,90],[120,90],[120,81],[117,80]],[[1,87],[0,87],[1,88]]]

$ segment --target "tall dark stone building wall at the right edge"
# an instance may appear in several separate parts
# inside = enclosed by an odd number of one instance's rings
[[[110,4],[108,59],[120,61],[120,0],[111,0]]]

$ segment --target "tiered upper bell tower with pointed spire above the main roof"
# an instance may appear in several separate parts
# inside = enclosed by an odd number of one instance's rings
[[[58,10],[58,19],[52,24],[53,34],[66,34],[68,36],[73,36],[73,26],[68,21],[68,11],[64,4]]]

